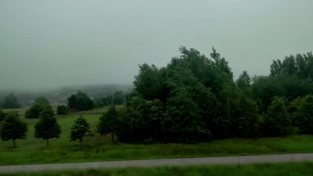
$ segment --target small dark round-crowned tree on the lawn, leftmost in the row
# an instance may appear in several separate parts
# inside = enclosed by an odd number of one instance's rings
[[[2,140],[13,140],[15,148],[16,139],[25,139],[27,133],[27,124],[19,118],[17,112],[9,112],[1,125]]]

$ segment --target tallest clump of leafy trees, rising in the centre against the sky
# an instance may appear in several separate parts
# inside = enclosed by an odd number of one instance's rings
[[[197,142],[211,138],[211,129],[219,135],[224,124],[214,123],[219,117],[228,123],[223,132],[230,133],[229,115],[223,109],[227,102],[217,98],[223,85],[233,82],[228,63],[214,48],[213,60],[193,48],[181,47],[180,52],[161,69],[140,65],[135,90],[126,97],[128,130],[123,134],[129,137],[121,135],[121,140]]]

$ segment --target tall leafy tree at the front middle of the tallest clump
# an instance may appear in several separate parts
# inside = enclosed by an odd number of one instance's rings
[[[210,137],[207,122],[215,102],[210,90],[198,82],[191,71],[176,68],[168,79],[173,89],[166,104],[163,129],[167,140],[196,142]]]

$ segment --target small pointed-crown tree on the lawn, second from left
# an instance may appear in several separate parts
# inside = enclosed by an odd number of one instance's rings
[[[39,115],[39,122],[35,125],[36,138],[42,138],[47,141],[49,146],[50,138],[59,138],[61,133],[61,127],[57,122],[57,119],[51,115],[50,110],[45,108]]]

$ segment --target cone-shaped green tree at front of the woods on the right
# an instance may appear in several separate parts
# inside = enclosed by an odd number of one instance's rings
[[[273,98],[264,118],[263,132],[267,136],[285,136],[290,134],[291,118],[282,98]]]

